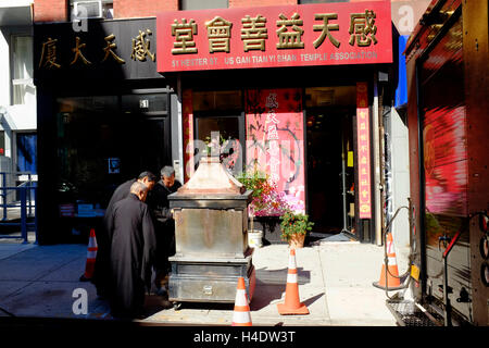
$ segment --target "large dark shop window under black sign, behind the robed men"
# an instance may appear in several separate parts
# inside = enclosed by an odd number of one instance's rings
[[[170,164],[167,100],[163,92],[59,98],[60,202],[104,208],[118,184]]]

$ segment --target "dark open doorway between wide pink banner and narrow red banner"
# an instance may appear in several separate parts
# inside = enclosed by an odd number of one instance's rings
[[[355,87],[306,88],[308,211],[314,232],[354,227]]]

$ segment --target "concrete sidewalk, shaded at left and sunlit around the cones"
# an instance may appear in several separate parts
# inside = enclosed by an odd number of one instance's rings
[[[310,314],[279,315],[276,303],[284,301],[288,248],[256,249],[256,287],[250,304],[253,325],[394,326],[385,293],[372,286],[380,274],[383,252],[383,247],[343,241],[297,250],[299,295]],[[95,286],[79,282],[86,256],[86,245],[0,244],[0,316],[110,320],[109,306],[97,298]],[[77,288],[86,290],[88,314],[73,313]],[[233,322],[234,306],[183,303],[179,310],[164,309],[160,297],[149,296],[146,309],[148,318],[142,322],[147,324],[226,326]]]

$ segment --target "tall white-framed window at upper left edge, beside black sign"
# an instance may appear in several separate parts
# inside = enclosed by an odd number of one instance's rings
[[[33,82],[33,37],[12,37],[12,104],[36,102]]]

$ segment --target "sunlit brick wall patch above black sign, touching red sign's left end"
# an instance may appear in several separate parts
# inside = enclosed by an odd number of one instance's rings
[[[178,11],[178,0],[114,0],[114,17],[149,17],[159,12]]]

